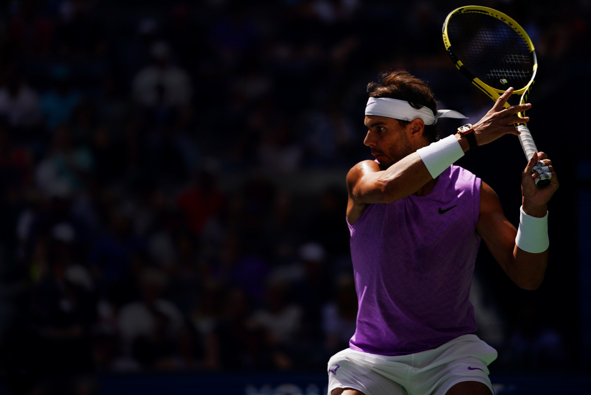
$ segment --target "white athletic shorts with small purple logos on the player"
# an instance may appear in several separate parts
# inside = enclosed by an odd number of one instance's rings
[[[460,381],[479,381],[494,393],[487,366],[496,357],[496,350],[476,335],[398,357],[345,349],[329,360],[328,395],[335,388],[365,395],[444,395]]]

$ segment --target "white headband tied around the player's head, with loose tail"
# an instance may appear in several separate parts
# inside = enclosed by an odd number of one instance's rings
[[[436,124],[438,118],[468,118],[453,110],[438,110],[437,115],[433,115],[433,111],[426,106],[416,109],[405,100],[391,98],[369,98],[365,106],[365,115],[387,116],[401,121],[421,118],[425,125]]]

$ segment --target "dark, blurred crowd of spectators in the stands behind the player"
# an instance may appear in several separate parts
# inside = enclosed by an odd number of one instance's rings
[[[489,106],[452,87],[440,29],[456,4],[393,3],[2,5],[5,386],[83,394],[97,373],[322,371],[347,347],[344,179],[369,157],[365,85],[405,68],[458,111]],[[548,62],[588,62],[588,2],[554,4],[552,18],[484,3],[521,18]],[[521,313],[529,325],[509,331],[481,291],[483,337],[512,350],[501,363],[566,363],[564,334]]]

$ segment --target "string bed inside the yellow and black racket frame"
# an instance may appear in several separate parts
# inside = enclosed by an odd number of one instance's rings
[[[447,34],[457,58],[487,85],[519,89],[530,82],[533,56],[521,36],[505,22],[466,12],[450,18]]]

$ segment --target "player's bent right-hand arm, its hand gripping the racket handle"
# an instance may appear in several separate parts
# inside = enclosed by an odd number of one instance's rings
[[[535,186],[539,174],[532,169],[543,161],[550,184]],[[524,289],[537,289],[548,261],[547,203],[558,189],[558,179],[546,154],[534,153],[521,174],[522,206],[519,228],[506,219],[498,196],[487,184],[480,190],[480,216],[476,230],[505,273]]]

